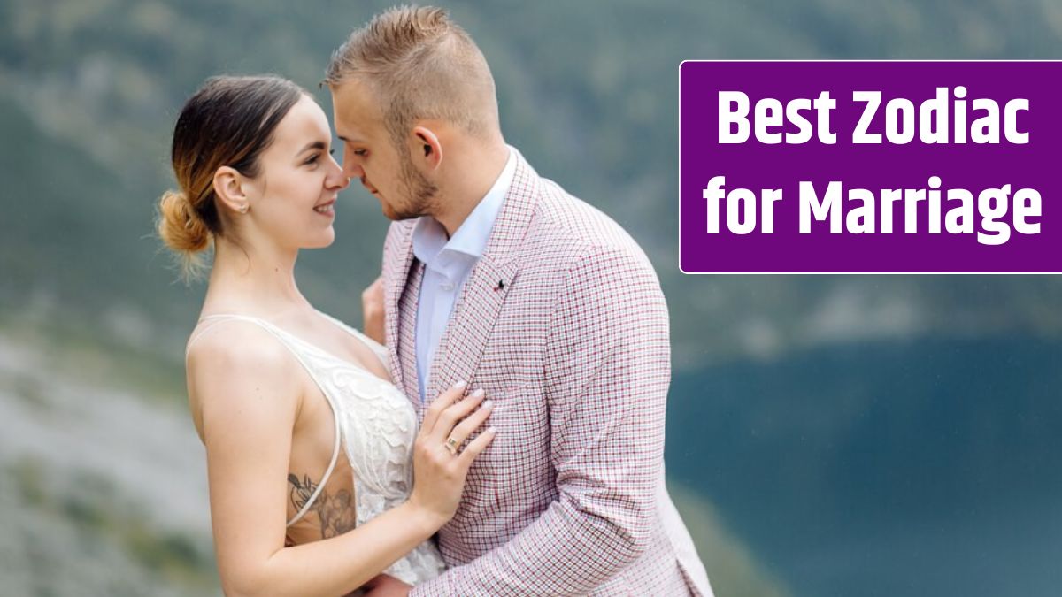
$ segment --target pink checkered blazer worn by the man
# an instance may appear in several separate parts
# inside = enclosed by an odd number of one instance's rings
[[[498,436],[439,533],[450,569],[413,595],[710,596],[664,488],[670,348],[652,266],[619,225],[516,159],[425,393],[483,388]],[[392,375],[423,416],[413,223],[391,225],[383,279]]]

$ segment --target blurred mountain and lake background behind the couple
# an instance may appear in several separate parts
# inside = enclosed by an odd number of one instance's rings
[[[717,595],[1054,595],[1062,280],[685,276],[689,58],[1062,58],[1057,0],[441,2],[507,140],[646,249],[671,308],[669,481]],[[0,578],[219,593],[182,351],[202,300],[154,236],[211,74],[319,90],[377,1],[0,3]],[[1060,88],[1062,90],[1062,88]],[[299,286],[357,323],[387,221],[341,195]]]

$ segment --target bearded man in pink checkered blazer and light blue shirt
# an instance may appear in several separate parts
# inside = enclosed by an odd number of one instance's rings
[[[412,595],[710,595],[664,485],[667,306],[637,244],[502,139],[494,80],[433,7],[355,31],[326,82],[343,168],[394,220],[395,382],[424,409],[467,380],[493,445]]]

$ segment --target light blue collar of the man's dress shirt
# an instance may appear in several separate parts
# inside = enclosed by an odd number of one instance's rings
[[[473,258],[472,260],[482,257],[486,241],[491,238],[491,229],[498,219],[498,212],[501,211],[501,205],[509,194],[515,174],[515,150],[510,147],[506,167],[501,169],[491,190],[486,191],[476,208],[448,240],[446,228],[434,218],[430,216],[418,218],[413,228],[413,254],[416,258],[430,266],[444,251],[467,255]]]

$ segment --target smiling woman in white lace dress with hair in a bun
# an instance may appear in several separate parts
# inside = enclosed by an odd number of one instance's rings
[[[428,540],[494,437],[473,436],[491,405],[461,385],[417,431],[383,347],[296,288],[298,251],[332,242],[349,183],[330,141],[321,107],[273,76],[210,79],[173,134],[181,190],[160,201],[159,234],[186,267],[215,251],[187,371],[229,595],[331,596],[384,570],[410,584],[438,575]]]

